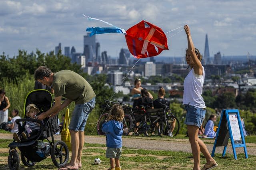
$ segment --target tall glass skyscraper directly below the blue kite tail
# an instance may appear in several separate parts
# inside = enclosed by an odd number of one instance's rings
[[[88,33],[84,36],[84,53],[86,62],[92,62],[96,59],[96,36],[91,36]]]

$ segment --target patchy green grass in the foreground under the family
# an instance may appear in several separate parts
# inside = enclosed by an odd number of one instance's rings
[[[184,135],[183,135],[184,136]],[[178,138],[182,136],[178,136]],[[255,139],[255,138],[254,138]],[[157,138],[156,138],[157,140]],[[252,139],[250,139],[252,140]],[[254,140],[255,141],[255,140]],[[0,139],[0,169],[8,169],[8,144],[12,140]],[[82,170],[102,170],[109,168],[109,159],[105,157],[105,144],[84,144],[82,154]],[[20,154],[20,153],[19,153]],[[215,159],[219,166],[216,170],[251,170],[255,169],[256,156],[249,155],[248,159],[244,158],[244,154],[238,154],[238,159],[234,160],[232,154],[216,154]],[[94,159],[100,158],[102,163],[94,165]],[[204,156],[201,156],[201,166],[205,163]],[[187,152],[174,151],[156,151],[131,149],[123,147],[120,164],[123,170],[191,170],[193,167],[192,154]],[[52,163],[51,157],[36,163],[33,167],[27,168],[20,162],[21,170],[46,170],[57,169]]]

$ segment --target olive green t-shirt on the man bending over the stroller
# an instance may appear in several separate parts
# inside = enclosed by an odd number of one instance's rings
[[[54,73],[52,88],[54,97],[63,96],[76,104],[86,103],[96,96],[86,79],[71,70]]]

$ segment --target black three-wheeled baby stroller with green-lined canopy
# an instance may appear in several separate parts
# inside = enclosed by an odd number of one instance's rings
[[[28,140],[21,142],[14,140],[8,145],[8,147],[10,147],[8,156],[9,168],[11,170],[18,170],[20,167],[20,158],[25,166],[30,167],[34,166],[36,162],[44,160],[47,156],[51,156],[55,166],[61,167],[68,162],[69,151],[65,142],[62,140],[54,141],[54,133],[60,130],[58,117],[55,115],[50,118],[45,118],[43,123],[38,119],[28,119],[25,114],[26,107],[31,103],[38,107],[40,113],[46,112],[54,105],[52,95],[47,90],[33,90],[28,93],[24,103],[24,119],[16,120],[19,129],[18,134],[21,134],[21,132],[25,130],[26,121],[39,123],[40,131],[38,134],[30,136]],[[20,122],[22,122],[22,125]],[[52,141],[48,139],[50,136]],[[20,150],[20,157],[15,147],[18,147]]]

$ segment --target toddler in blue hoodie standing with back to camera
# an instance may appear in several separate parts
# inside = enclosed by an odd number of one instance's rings
[[[102,125],[102,131],[106,133],[106,158],[110,158],[110,168],[108,170],[121,170],[123,119],[124,109],[121,105],[114,104],[108,113],[108,121]],[[114,166],[115,163],[116,167]]]

